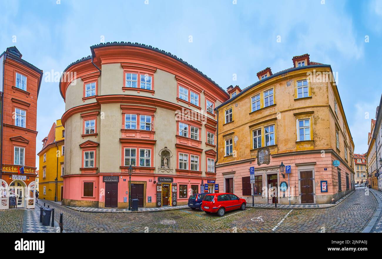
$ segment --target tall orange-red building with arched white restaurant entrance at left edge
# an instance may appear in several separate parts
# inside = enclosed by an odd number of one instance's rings
[[[34,208],[37,97],[42,70],[21,57],[16,47],[0,55],[0,209]]]

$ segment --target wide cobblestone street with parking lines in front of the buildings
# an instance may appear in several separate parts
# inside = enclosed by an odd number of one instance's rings
[[[357,189],[331,208],[247,208],[224,217],[191,209],[116,214],[78,212],[54,203],[50,207],[56,215],[63,213],[66,232],[361,232],[376,210],[374,196],[364,193]]]

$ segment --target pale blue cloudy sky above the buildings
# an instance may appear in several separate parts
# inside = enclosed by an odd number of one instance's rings
[[[62,73],[91,55],[90,46],[114,41],[171,52],[224,89],[243,89],[264,68],[279,72],[308,53],[338,72],[354,153],[367,151],[382,93],[382,0],[0,0],[0,10],[0,52],[16,46],[44,71],[37,152],[65,111],[58,82],[45,80],[46,72]]]

